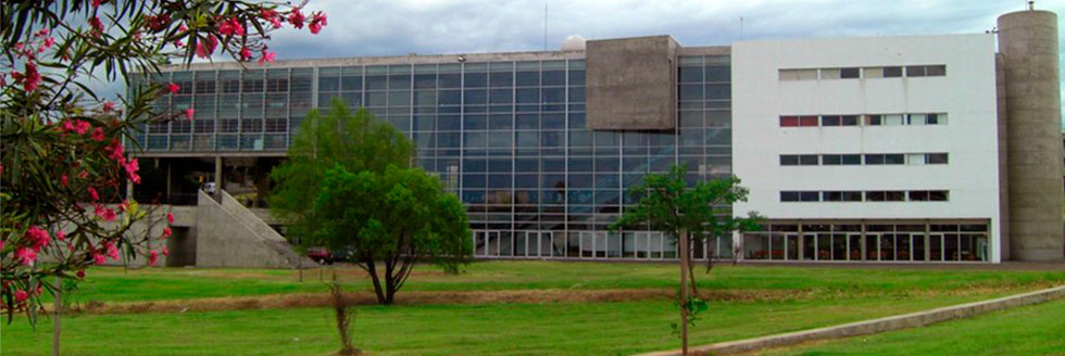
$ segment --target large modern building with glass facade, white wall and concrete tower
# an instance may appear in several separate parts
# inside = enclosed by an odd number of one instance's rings
[[[1011,13],[998,28],[173,66],[154,80],[181,89],[159,109],[196,119],[138,134],[155,176],[136,195],[213,206],[198,193],[213,181],[233,216],[254,216],[233,202],[258,206],[300,122],[340,98],[416,142],[417,165],[466,204],[478,257],[675,258],[660,232],[606,226],[635,203],[626,188],[681,164],[692,181],[739,176],[751,195],[732,211],[768,218],[694,246],[698,258],[1061,260],[1056,15]],[[199,224],[188,260],[218,265],[204,246],[240,233]]]

